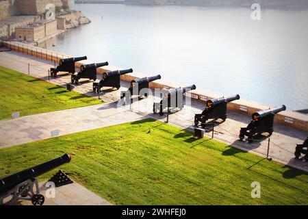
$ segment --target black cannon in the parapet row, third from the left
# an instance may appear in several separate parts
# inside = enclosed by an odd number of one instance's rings
[[[93,82],[93,92],[101,92],[101,88],[112,87],[112,88],[120,88],[120,76],[128,73],[132,73],[133,69],[129,68],[126,70],[113,70],[103,73],[103,79],[101,81]]]

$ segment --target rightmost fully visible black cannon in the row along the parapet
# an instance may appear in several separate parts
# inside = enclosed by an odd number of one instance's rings
[[[284,110],[286,110],[286,107],[285,105],[282,105],[281,107],[276,107],[274,109],[254,112],[251,123],[249,123],[246,128],[241,128],[239,136],[240,140],[243,140],[245,136],[247,136],[248,142],[253,142],[255,134],[261,135],[261,133],[264,132],[272,135],[272,132],[274,131],[274,116]]]

